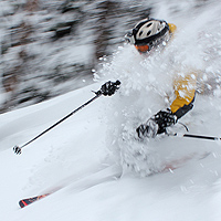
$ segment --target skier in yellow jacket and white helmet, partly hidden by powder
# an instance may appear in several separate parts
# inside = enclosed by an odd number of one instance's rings
[[[172,39],[176,25],[164,20],[144,19],[139,21],[126,40],[134,44],[139,53],[150,55],[155,51],[164,50]],[[137,129],[139,138],[155,138],[158,134],[166,133],[166,128],[175,125],[179,118],[193,107],[197,84],[197,73],[191,72],[178,76],[173,82],[175,99],[166,110],[159,110]],[[106,94],[114,92],[110,83],[103,85]]]

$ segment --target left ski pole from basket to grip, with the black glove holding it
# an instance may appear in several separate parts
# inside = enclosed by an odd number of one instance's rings
[[[113,85],[113,90],[114,92],[116,90],[118,90],[118,85],[120,84],[119,81],[116,81],[114,83],[112,82],[107,82],[108,84],[110,83]],[[106,83],[106,84],[107,84]],[[78,112],[80,109],[84,108],[85,106],[87,106],[90,103],[92,103],[93,101],[97,99],[99,96],[102,96],[103,94],[105,94],[103,86],[99,91],[94,92],[96,94],[96,96],[94,96],[92,99],[90,99],[88,102],[86,102],[85,104],[83,104],[82,106],[80,106],[78,108],[74,109],[73,112],[71,112],[70,114],[67,114],[65,117],[63,117],[62,119],[60,119],[59,122],[56,122],[55,124],[53,124],[51,127],[49,127],[48,129],[45,129],[44,131],[42,131],[41,134],[39,134],[38,136],[35,136],[34,138],[32,138],[31,140],[29,140],[28,143],[25,143],[24,145],[22,145],[21,147],[19,146],[14,146],[13,150],[17,155],[21,154],[21,149],[24,148],[25,146],[28,146],[29,144],[31,144],[32,141],[36,140],[39,137],[41,137],[42,135],[44,135],[45,133],[48,133],[49,130],[53,129],[55,126],[57,126],[59,124],[61,124],[62,122],[64,122],[65,119],[67,119],[69,117],[71,117],[73,114],[75,114],[76,112]],[[114,94],[114,93],[113,93]],[[106,95],[106,94],[105,94]]]

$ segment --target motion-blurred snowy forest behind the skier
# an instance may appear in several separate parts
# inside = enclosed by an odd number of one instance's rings
[[[124,44],[127,31],[159,4],[170,3],[170,13],[179,15],[209,2],[1,0],[0,113],[93,83],[93,73]]]

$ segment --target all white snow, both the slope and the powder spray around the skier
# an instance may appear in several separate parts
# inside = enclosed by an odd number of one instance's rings
[[[0,115],[0,220],[220,221],[221,141],[134,139],[139,124],[170,104],[175,74],[190,69],[203,70],[208,92],[197,94],[194,108],[180,122],[191,134],[221,137],[220,9],[208,7],[190,23],[191,14],[171,18],[165,12],[179,30],[157,56],[144,57],[124,45],[103,61],[96,83]],[[211,78],[217,84],[208,83]],[[97,98],[14,155],[14,145],[25,144],[91,99],[92,91],[107,80],[122,82],[114,96]],[[204,159],[148,176],[166,161],[204,151],[211,152]],[[53,193],[19,208],[20,199],[48,192]]]

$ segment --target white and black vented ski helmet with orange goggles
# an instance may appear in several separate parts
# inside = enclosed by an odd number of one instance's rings
[[[167,42],[169,38],[169,25],[166,21],[148,18],[139,21],[125,36],[143,53],[158,46],[164,41]]]

